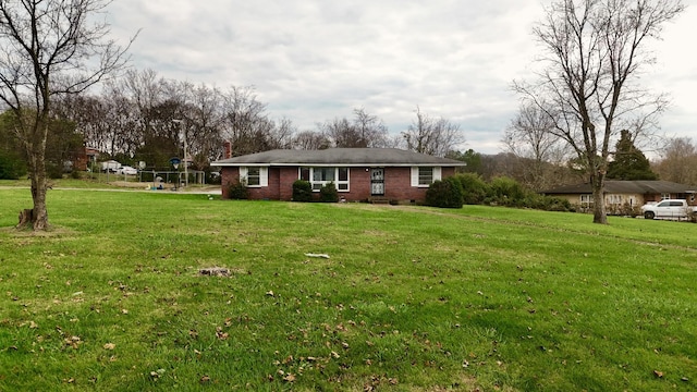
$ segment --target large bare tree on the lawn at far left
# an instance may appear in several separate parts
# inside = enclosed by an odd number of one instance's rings
[[[46,139],[54,96],[80,93],[124,66],[125,49],[94,22],[107,0],[0,1],[0,100],[28,157],[33,208],[19,226],[48,228]],[[97,61],[94,61],[95,57]]]

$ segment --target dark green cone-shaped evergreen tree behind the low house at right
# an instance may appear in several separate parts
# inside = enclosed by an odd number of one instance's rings
[[[615,145],[614,161],[608,164],[608,180],[658,180],[651,171],[651,163],[644,152],[636,148],[629,131],[622,130]]]

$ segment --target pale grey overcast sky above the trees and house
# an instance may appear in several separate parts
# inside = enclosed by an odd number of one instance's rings
[[[644,77],[670,94],[668,136],[697,142],[697,0],[655,46]],[[118,0],[115,38],[142,29],[132,64],[164,78],[254,86],[271,118],[301,131],[364,108],[391,133],[423,113],[458,124],[462,149],[501,151],[517,111],[513,79],[529,77],[531,36],[548,0]]]

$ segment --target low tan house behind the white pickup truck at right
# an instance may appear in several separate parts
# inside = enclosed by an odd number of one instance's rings
[[[689,205],[695,205],[696,189],[694,186],[670,181],[606,181],[606,208],[612,212],[669,198],[686,199]],[[542,193],[565,198],[582,208],[592,207],[592,188],[589,183],[561,186]]]

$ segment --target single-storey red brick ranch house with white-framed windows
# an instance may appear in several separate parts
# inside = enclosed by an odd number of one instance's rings
[[[230,147],[225,145],[225,155]],[[329,148],[323,150],[271,150],[223,159],[222,196],[240,181],[247,184],[250,199],[291,200],[293,183],[309,181],[313,191],[334,183],[347,201],[423,201],[428,186],[453,175],[462,161],[431,157],[395,148]]]

